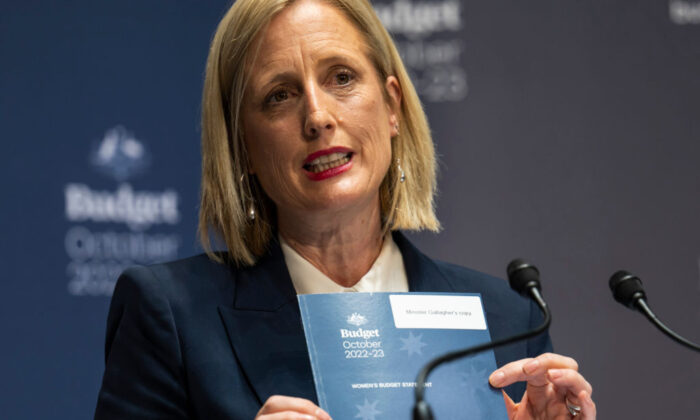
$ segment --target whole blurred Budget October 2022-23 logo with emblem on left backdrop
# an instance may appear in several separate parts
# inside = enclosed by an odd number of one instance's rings
[[[89,182],[94,176],[86,171],[63,188],[67,288],[77,296],[109,296],[125,268],[178,257],[179,194],[126,182],[147,173],[151,156],[122,126],[107,130],[89,161],[116,182],[95,188]]]

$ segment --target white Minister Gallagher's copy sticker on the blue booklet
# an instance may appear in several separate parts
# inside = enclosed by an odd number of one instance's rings
[[[396,328],[485,330],[479,296],[390,295]]]

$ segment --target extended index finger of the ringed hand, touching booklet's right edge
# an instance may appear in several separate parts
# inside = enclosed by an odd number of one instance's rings
[[[534,359],[521,359],[502,366],[491,374],[489,382],[500,388],[521,381],[543,386],[547,384],[547,378],[544,375],[549,369],[578,370],[578,363],[570,357],[545,353]]]

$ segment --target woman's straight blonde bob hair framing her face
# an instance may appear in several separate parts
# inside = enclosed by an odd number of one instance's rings
[[[400,134],[392,140],[392,165],[380,186],[382,226],[437,231],[434,195],[435,150],[428,121],[415,88],[389,33],[367,0],[323,0],[340,10],[364,35],[367,54],[380,80],[398,79]],[[202,185],[199,237],[209,256],[236,265],[253,265],[262,255],[276,226],[276,212],[254,176],[241,123],[241,104],[253,60],[256,35],[273,16],[294,0],[238,0],[216,29],[209,49],[202,98]],[[383,84],[383,83],[382,83]],[[385,100],[389,100],[385,92]],[[400,182],[400,170],[406,182]],[[255,218],[248,216],[254,204]],[[251,220],[252,219],[252,220]],[[213,240],[223,240],[228,255],[214,253]]]

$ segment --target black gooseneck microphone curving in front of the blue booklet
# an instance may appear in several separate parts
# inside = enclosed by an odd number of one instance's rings
[[[508,283],[510,284],[511,289],[515,290],[522,296],[529,297],[534,300],[544,315],[544,321],[542,321],[541,325],[530,331],[526,331],[511,337],[502,338],[500,340],[490,341],[477,346],[468,347],[464,350],[453,351],[442,356],[438,356],[426,363],[420,372],[418,372],[418,376],[416,377],[416,402],[413,406],[413,420],[434,419],[430,405],[427,401],[425,401],[425,382],[428,380],[428,375],[430,375],[430,372],[435,370],[435,368],[443,363],[452,362],[475,353],[505,346],[516,341],[526,340],[544,332],[547,328],[549,328],[549,324],[552,322],[552,314],[542,298],[542,294],[540,293],[540,272],[537,267],[521,259],[515,259],[508,264],[506,271],[508,273]]]

